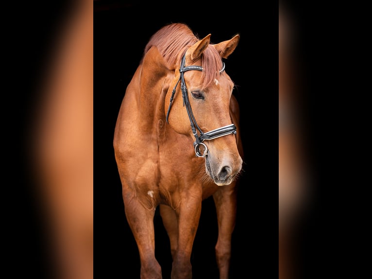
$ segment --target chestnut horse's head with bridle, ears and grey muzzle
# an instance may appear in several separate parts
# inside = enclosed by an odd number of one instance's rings
[[[242,166],[230,116],[234,83],[222,62],[234,52],[238,41],[239,35],[235,35],[211,44],[209,34],[188,46],[180,54],[181,66],[176,67],[166,96],[169,125],[195,140],[195,153],[204,157],[206,174],[218,186],[230,184]]]

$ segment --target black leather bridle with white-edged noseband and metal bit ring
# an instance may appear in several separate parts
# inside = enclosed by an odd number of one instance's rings
[[[237,127],[234,124],[229,124],[229,125],[211,130],[209,132],[203,133],[202,129],[199,127],[198,123],[195,120],[194,114],[192,113],[191,105],[188,100],[187,88],[186,88],[186,83],[185,83],[185,78],[184,78],[184,73],[186,71],[188,70],[202,71],[203,67],[201,66],[185,67],[185,60],[186,60],[186,54],[182,57],[182,60],[181,60],[180,78],[178,79],[176,85],[173,87],[172,96],[170,97],[170,103],[169,103],[168,112],[167,112],[167,123],[169,123],[168,122],[169,111],[170,111],[170,106],[172,105],[172,102],[173,102],[174,94],[176,93],[176,87],[178,86],[178,83],[181,81],[182,98],[184,100],[184,106],[186,107],[187,115],[190,120],[191,131],[195,137],[195,141],[194,141],[195,154],[198,157],[205,157],[207,155],[208,148],[203,143],[204,140],[214,140],[214,139],[226,136],[226,135],[236,134]],[[222,64],[222,69],[220,70],[220,73],[222,73],[224,70],[225,70],[225,63]],[[197,129],[199,131],[199,134],[198,134]],[[203,152],[200,149],[201,145],[203,146]]]

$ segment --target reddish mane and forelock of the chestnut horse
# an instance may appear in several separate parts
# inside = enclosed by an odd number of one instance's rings
[[[165,25],[152,35],[145,47],[144,55],[152,46],[156,46],[163,56],[167,67],[174,69],[176,67],[175,65],[180,64],[181,57],[185,54],[186,50],[199,40],[186,24],[171,23]],[[219,52],[211,45],[208,45],[201,59],[204,69],[202,72],[202,87],[207,88],[214,82],[219,71],[222,69],[222,60]]]

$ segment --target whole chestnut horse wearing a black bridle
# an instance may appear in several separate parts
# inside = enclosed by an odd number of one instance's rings
[[[242,168],[239,107],[222,58],[239,35],[218,44],[181,23],[164,26],[145,47],[123,98],[114,150],[126,218],[142,279],[162,278],[154,254],[154,212],[170,240],[171,278],[191,279],[191,250],[203,199],[213,195],[220,278],[228,278]]]

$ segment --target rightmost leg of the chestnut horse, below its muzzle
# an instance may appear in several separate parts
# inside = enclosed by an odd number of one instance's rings
[[[231,235],[233,233],[236,212],[237,192],[235,182],[223,186],[213,194],[218,219],[218,239],[216,244],[216,260],[220,271],[220,279],[229,278],[231,258]]]

